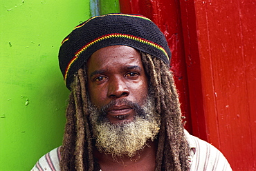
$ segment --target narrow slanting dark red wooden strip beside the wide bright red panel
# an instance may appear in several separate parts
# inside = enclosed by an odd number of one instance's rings
[[[190,90],[190,108],[192,133],[207,141],[208,128],[205,123],[205,106],[203,103],[203,83],[201,80],[201,61],[197,41],[196,12],[194,1],[180,1],[183,28],[184,51],[188,71],[188,87]],[[208,97],[209,98],[209,97]]]

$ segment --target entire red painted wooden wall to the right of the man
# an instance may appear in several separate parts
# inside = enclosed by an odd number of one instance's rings
[[[256,3],[120,0],[164,32],[186,128],[219,148],[233,170],[256,170]]]

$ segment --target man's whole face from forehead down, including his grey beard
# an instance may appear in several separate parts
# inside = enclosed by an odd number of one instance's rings
[[[139,52],[109,46],[94,52],[87,65],[96,147],[113,156],[134,156],[156,138],[160,125]]]

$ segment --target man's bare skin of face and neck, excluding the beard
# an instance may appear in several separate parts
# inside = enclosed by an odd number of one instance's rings
[[[109,46],[94,52],[87,63],[88,88],[91,102],[98,108],[111,100],[127,99],[143,105],[147,98],[148,82],[140,53],[128,46]],[[129,122],[134,119],[134,110],[122,103],[117,103],[107,112],[111,123]],[[120,120],[122,116],[122,120]],[[94,151],[102,171],[107,170],[154,170],[156,144],[148,145],[129,158],[113,160],[111,154]]]

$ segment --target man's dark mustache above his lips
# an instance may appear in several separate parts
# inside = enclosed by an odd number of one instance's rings
[[[136,116],[141,117],[142,119],[145,119],[145,115],[146,115],[145,110],[138,103],[129,101],[127,99],[116,99],[116,100],[111,100],[107,105],[102,105],[102,107],[97,109],[98,112],[100,113],[98,117],[98,121],[105,121],[107,119],[107,112],[117,104],[129,106],[131,109],[134,110]]]

